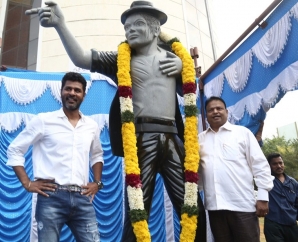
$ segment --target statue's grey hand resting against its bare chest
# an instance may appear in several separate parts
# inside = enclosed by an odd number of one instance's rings
[[[160,70],[167,76],[179,75],[182,71],[182,61],[175,54],[167,51],[167,58],[160,60]]]

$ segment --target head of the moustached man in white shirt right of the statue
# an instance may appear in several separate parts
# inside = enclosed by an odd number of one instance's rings
[[[227,122],[228,110],[219,100],[213,100],[208,103],[206,112],[208,123],[214,131],[218,131],[218,129]]]

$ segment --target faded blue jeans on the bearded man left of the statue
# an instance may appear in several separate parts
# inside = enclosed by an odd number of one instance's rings
[[[77,242],[99,242],[99,230],[90,197],[79,192],[45,191],[49,197],[38,194],[36,222],[39,242],[59,242],[64,224]]]

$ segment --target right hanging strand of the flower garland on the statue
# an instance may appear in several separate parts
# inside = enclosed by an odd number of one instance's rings
[[[184,205],[181,210],[181,233],[180,242],[194,241],[197,229],[198,217],[198,168],[199,168],[199,142],[198,142],[198,121],[196,106],[196,96],[193,95],[196,90],[195,69],[190,54],[177,40],[172,42],[172,50],[182,60],[182,83],[183,97],[185,102],[185,194]]]

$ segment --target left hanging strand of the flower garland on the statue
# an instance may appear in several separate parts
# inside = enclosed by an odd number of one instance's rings
[[[147,214],[144,209],[142,182],[137,156],[134,114],[132,105],[132,83],[130,77],[131,50],[127,43],[118,47],[118,91],[120,99],[122,138],[125,162],[127,194],[130,220],[137,241],[151,241]]]

